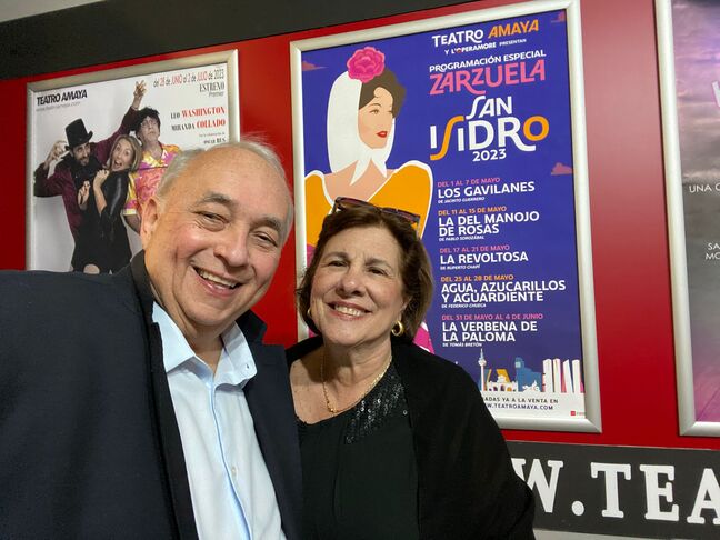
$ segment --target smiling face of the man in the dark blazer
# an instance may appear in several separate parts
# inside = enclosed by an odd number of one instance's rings
[[[216,338],[260,300],[278,267],[289,194],[257,154],[210,150],[142,214],[154,293],[188,341]]]

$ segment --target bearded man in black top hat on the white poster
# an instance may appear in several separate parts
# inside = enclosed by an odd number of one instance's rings
[[[114,140],[121,134],[130,133],[144,92],[144,82],[136,83],[132,104],[122,117],[120,127],[110,137],[99,142],[90,142],[92,131],[86,129],[81,118],[70,122],[66,127],[67,144],[64,141],[57,141],[46,160],[34,171],[34,196],[62,197],[70,232],[76,241],[82,222],[82,211],[78,204],[78,190],[86,181],[92,180],[96,172],[108,161]],[[68,153],[66,154],[66,152]],[[56,163],[56,167],[50,174],[52,163]],[[74,266],[73,269],[82,271],[82,268],[74,268]]]

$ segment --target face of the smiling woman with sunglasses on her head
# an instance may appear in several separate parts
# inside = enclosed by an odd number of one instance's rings
[[[392,234],[383,227],[347,229],[318,256],[310,310],[324,342],[372,350],[389,340],[407,303]]]

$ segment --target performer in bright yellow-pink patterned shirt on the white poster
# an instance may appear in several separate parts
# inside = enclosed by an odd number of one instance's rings
[[[174,144],[160,142],[160,113],[151,107],[138,111],[133,131],[142,144],[142,160],[138,171],[131,176],[122,214],[132,230],[139,233],[142,207],[154,194],[162,174],[181,150]]]

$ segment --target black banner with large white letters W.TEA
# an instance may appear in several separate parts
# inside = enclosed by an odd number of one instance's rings
[[[720,452],[508,442],[538,529],[720,538]]]

